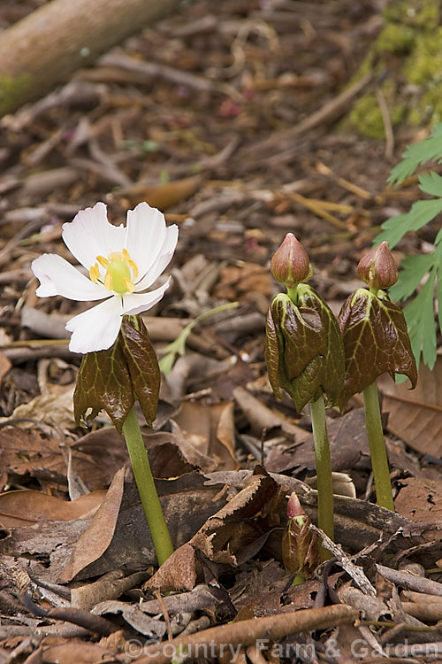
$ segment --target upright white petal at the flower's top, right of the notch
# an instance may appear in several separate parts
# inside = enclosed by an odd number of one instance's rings
[[[158,258],[166,235],[164,214],[147,203],[127,211],[126,249],[136,263],[140,277]]]

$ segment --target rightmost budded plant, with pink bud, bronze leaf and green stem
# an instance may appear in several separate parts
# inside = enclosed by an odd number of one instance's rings
[[[385,292],[398,280],[398,269],[386,242],[362,256],[358,274],[368,289],[357,289],[347,297],[338,317],[346,374],[337,403],[342,408],[354,394],[363,393],[377,504],[393,510],[376,380],[385,373],[393,379],[395,374],[405,374],[414,388],[417,368],[402,310]]]

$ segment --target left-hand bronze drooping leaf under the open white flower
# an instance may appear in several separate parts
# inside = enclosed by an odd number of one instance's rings
[[[73,393],[75,421],[92,421],[104,410],[118,432],[133,406],[131,376],[118,336],[107,351],[88,352],[82,359]]]

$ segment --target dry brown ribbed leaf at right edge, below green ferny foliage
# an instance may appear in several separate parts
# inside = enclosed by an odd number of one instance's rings
[[[384,393],[383,411],[389,413],[388,430],[413,450],[441,457],[442,357],[432,371],[421,365],[415,390],[408,390],[408,382],[397,385],[387,374],[377,384]]]

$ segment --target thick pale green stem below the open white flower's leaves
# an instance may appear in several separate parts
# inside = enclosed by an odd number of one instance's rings
[[[156,486],[150,464],[148,453],[144,447],[138,424],[135,408],[132,407],[123,424],[123,433],[126,438],[127,451],[131,459],[133,475],[137,483],[141,498],[141,505],[148,521],[150,536],[154,543],[158,565],[163,565],[173,553],[171,536],[164,519],[163,509],[156,493]]]

